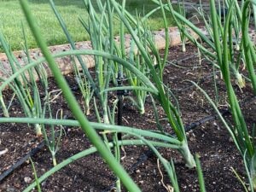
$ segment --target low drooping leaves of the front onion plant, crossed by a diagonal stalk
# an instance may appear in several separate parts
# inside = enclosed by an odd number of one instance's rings
[[[15,122],[15,123],[40,123],[44,125],[65,125],[65,126],[79,126],[78,120],[71,120],[71,119],[32,119],[32,118],[0,118],[0,123],[7,123],[7,122]],[[176,138],[169,137],[166,133],[165,135],[162,135],[161,133],[157,133],[154,131],[147,131],[147,130],[140,130],[136,128],[131,128],[127,126],[119,126],[119,125],[106,125],[101,123],[93,123],[90,122],[90,125],[94,127],[97,130],[105,131],[108,130],[108,132],[122,132],[125,134],[130,135],[131,137],[136,138],[130,138],[125,139],[122,141],[116,141],[114,143],[108,143],[108,148],[113,148],[114,145],[119,144],[122,145],[148,145],[149,148],[151,148],[154,151],[154,154],[157,155],[157,157],[160,159],[160,162],[163,164],[163,166],[166,167],[166,171],[168,173],[168,176],[172,180],[172,185],[175,189],[175,191],[179,191],[178,189],[178,183],[177,183],[177,176],[174,169],[174,165],[172,160],[166,160],[164,157],[160,155],[160,152],[156,149],[156,147],[160,148],[182,148],[182,143],[180,143]],[[128,137],[127,137],[128,138]],[[96,152],[96,148],[88,148],[84,150],[83,152],[80,152],[79,154],[75,154],[72,157],[68,158],[67,160],[64,160],[54,168],[52,168],[49,172],[44,173],[44,175],[40,178],[38,178],[39,183],[42,183],[44,179],[49,177],[54,172],[60,170],[64,166],[67,166],[68,164],[72,163],[74,160],[78,160],[86,155],[92,154]],[[200,171],[201,172],[201,171]],[[32,183],[31,186],[29,186],[25,191],[29,191],[29,189],[32,189],[36,184]]]

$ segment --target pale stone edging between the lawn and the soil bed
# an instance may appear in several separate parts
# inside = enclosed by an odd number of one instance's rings
[[[194,38],[198,38],[198,36],[195,34],[195,32],[190,31],[190,34]],[[154,33],[154,43],[157,47],[157,49],[165,49],[166,48],[166,33],[164,30],[155,31]],[[178,44],[181,44],[181,38],[180,38],[180,32],[178,28],[175,27],[169,27],[169,37],[170,37],[170,47],[177,46]],[[115,37],[114,40],[119,43],[119,37]],[[130,48],[131,43],[131,35],[125,35],[125,49],[128,51]],[[92,49],[90,41],[84,41],[76,43],[77,49]],[[60,53],[61,51],[67,51],[70,50],[70,44],[61,44],[61,45],[55,45],[50,46],[49,50],[52,54]],[[137,51],[136,51],[137,52]],[[20,66],[24,67],[26,65],[26,54],[24,51],[15,51],[13,53],[15,55],[15,58],[17,61],[19,61]],[[42,52],[40,49],[30,49],[29,50],[30,57],[32,60],[37,60],[39,57],[42,57]],[[82,59],[84,60],[84,63],[86,63],[87,67],[94,67],[94,57],[92,55],[81,55]],[[73,64],[72,64],[72,58],[70,56],[65,56],[62,58],[55,59],[57,65],[61,69],[61,73],[67,74],[73,72]],[[74,60],[78,67],[80,67],[79,61],[77,59]],[[7,79],[9,75],[12,74],[12,70],[9,66],[9,61],[7,56],[4,53],[0,54],[0,77],[3,79]],[[50,69],[46,63],[43,63],[44,68],[46,69],[48,77],[52,77],[52,73],[50,72]],[[3,67],[4,73],[1,69]],[[38,76],[35,75],[35,78],[38,80]]]

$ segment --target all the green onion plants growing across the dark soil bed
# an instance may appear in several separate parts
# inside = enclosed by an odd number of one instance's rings
[[[255,189],[256,166],[253,137],[253,127],[255,127],[253,124],[255,122],[247,124],[247,120],[241,111],[237,91],[234,90],[234,86],[244,90],[245,84],[249,84],[247,86],[251,89],[249,88],[248,91],[253,92],[254,96],[256,94],[254,70],[256,53],[254,44],[248,34],[250,11],[254,10],[254,4],[250,1],[242,4],[237,3],[236,0],[230,1],[224,4],[228,8],[226,15],[218,15],[215,2],[210,1],[211,15],[209,15],[209,18],[207,18],[208,15],[204,15],[202,9],[199,11],[205,22],[208,34],[206,35],[205,32],[201,31],[201,28],[185,18],[185,9],[182,6],[179,7],[179,12],[177,12],[172,8],[170,1],[167,1],[166,4],[157,0],[152,0],[152,2],[156,3],[158,7],[144,15],[143,19],[139,19],[138,15],[131,15],[125,10],[125,1],[122,3],[117,3],[114,0],[107,0],[103,3],[100,0],[96,1],[97,9],[102,13],[98,15],[91,1],[84,0],[89,19],[80,19],[80,22],[90,35],[91,49],[77,49],[70,33],[67,31],[64,20],[55,8],[54,2],[50,0],[50,6],[57,20],[59,20],[71,47],[60,54],[52,54],[45,43],[41,30],[35,23],[29,4],[27,1],[20,1],[26,20],[44,57],[40,57],[41,55],[38,59],[31,57],[26,44],[26,34],[24,34],[26,48],[24,53],[26,56],[21,56],[17,60],[10,51],[9,44],[3,38],[3,34],[0,35],[1,45],[8,58],[6,63],[9,63],[10,69],[7,70],[8,67],[2,66],[3,71],[1,73],[6,76],[1,79],[3,83],[0,87],[0,103],[5,118],[0,118],[0,122],[34,125],[36,135],[38,137],[44,136],[44,143],[49,148],[54,165],[52,169],[40,177],[38,177],[37,168],[32,166],[35,181],[25,191],[35,187],[38,191],[41,191],[44,185],[40,183],[44,182],[54,172],[75,160],[79,160],[81,157],[96,152],[101,154],[110,170],[113,171],[114,176],[117,177],[114,186],[117,191],[121,190],[121,183],[129,191],[140,191],[141,189],[138,188],[137,183],[119,163],[122,154],[121,149],[125,145],[143,145],[153,151],[166,172],[168,183],[172,183],[172,187],[171,185],[166,186],[166,189],[170,191],[172,189],[180,191],[180,187],[174,167],[175,163],[173,160],[166,159],[163,151],[168,151],[170,148],[177,150],[182,156],[185,166],[189,169],[196,167],[200,190],[206,191],[199,156],[192,154],[189,148],[183,123],[184,117],[179,108],[177,96],[173,94],[172,84],[165,84],[164,73],[169,62],[167,59],[170,41],[172,40],[169,35],[166,13],[171,14],[176,21],[177,28],[180,31],[183,52],[186,51],[185,43],[189,39],[197,47],[198,55],[200,57],[203,55],[211,64],[215,100],[212,100],[199,84],[191,80],[189,80],[189,84],[193,84],[197,91],[200,91],[207,98],[207,102],[218,114],[220,121],[229,133],[229,136],[226,137],[231,137],[233,144],[241,154],[247,173],[248,187],[251,191]],[[165,26],[163,31],[165,35],[161,36],[165,37],[163,53],[160,53],[157,47],[156,36],[147,26],[148,18],[158,10],[162,14]],[[119,43],[114,40],[113,36],[113,13],[118,15],[119,20],[121,20]],[[129,32],[130,35],[128,47],[127,42],[125,42],[125,31]],[[193,32],[191,33],[191,31]],[[196,36],[191,35],[194,33]],[[79,102],[78,98],[73,95],[72,87],[67,84],[56,64],[55,57],[67,55],[70,56],[67,57],[68,62],[72,63],[73,79],[75,79],[83,102]],[[93,57],[90,57],[94,61],[93,72],[89,71],[84,55],[93,55]],[[61,90],[49,89],[49,79],[47,78],[49,72],[41,64],[43,62],[48,63],[56,84]],[[244,69],[247,69],[247,73],[242,74],[241,70]],[[226,89],[228,108],[230,108],[229,111],[232,117],[231,123],[224,119],[223,113],[218,108],[221,102],[218,98],[219,87],[217,82],[219,80],[217,77],[223,79],[221,82]],[[13,91],[12,98],[3,96],[3,89],[7,85]],[[118,96],[113,97],[113,91],[117,91]],[[132,94],[125,96],[124,94],[127,91]],[[59,95],[62,95],[67,102],[72,113],[72,119],[65,118],[62,108],[52,109],[52,103]],[[111,97],[114,99],[111,100]],[[193,95],[191,97],[193,98]],[[6,105],[6,99],[8,99],[9,105]],[[146,101],[151,103],[152,114],[154,115],[154,131],[122,125],[122,102],[124,102],[124,99],[131,102],[140,114],[145,113]],[[9,115],[9,109],[12,108],[12,102],[14,101],[18,101],[22,108],[22,112],[19,115],[17,114],[20,117],[13,118]],[[81,103],[83,103],[82,106]],[[91,110],[95,114],[97,123],[86,118]],[[116,120],[116,112],[118,120]],[[163,119],[167,122],[167,128],[166,125],[162,124]],[[116,123],[116,121],[118,122]],[[84,131],[84,137],[89,139],[93,147],[67,157],[66,160],[58,164],[55,157],[59,150],[61,137],[65,132],[61,128],[63,126],[79,126]],[[101,137],[96,130],[100,131]],[[166,149],[162,150],[160,148]],[[247,190],[247,182],[235,170],[234,172],[244,189]],[[164,182],[162,184],[165,185]]]

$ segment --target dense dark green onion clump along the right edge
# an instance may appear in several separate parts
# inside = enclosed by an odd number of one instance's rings
[[[157,1],[154,2],[158,3]],[[225,15],[223,15],[224,23],[222,23],[222,15],[218,15],[214,0],[210,1],[211,17],[208,18],[209,20],[204,18],[204,20],[207,22],[207,31],[209,33],[209,38],[207,38],[207,36],[203,34],[203,32],[201,32],[201,29],[197,28],[191,22],[189,22],[189,20],[184,18],[183,15],[180,15],[176,11],[174,11],[170,2],[165,6],[165,8],[166,10],[169,10],[176,18],[177,26],[179,26],[180,30],[183,31],[187,38],[194,42],[195,45],[199,49],[201,49],[201,51],[210,60],[213,60],[213,64],[215,64],[221,70],[224,83],[227,88],[230,111],[232,113],[234,125],[229,125],[225,121],[221,113],[219,113],[218,107],[214,104],[214,102],[212,102],[212,99],[207,96],[207,93],[202,90],[197,84],[194,84],[199,90],[204,93],[204,95],[207,97],[207,100],[212,104],[212,107],[217,111],[220,119],[224,123],[224,126],[230,132],[230,136],[236,144],[236,148],[239,150],[241,156],[243,157],[250,190],[253,191],[256,189],[255,141],[252,133],[253,131],[250,131],[253,129],[253,127],[249,127],[246,124],[246,121],[241,112],[238,99],[236,97],[236,92],[232,85],[232,79],[230,74],[235,73],[237,85],[241,88],[244,85],[244,80],[241,77],[241,73],[238,73],[238,69],[241,68],[240,64],[244,62],[244,65],[249,73],[248,79],[250,81],[250,84],[252,84],[253,93],[254,95],[256,94],[256,76],[254,70],[254,66],[256,63],[256,52],[255,48],[253,47],[253,42],[249,38],[248,34],[251,5],[254,7],[253,3],[255,3],[255,1],[242,2],[241,7],[239,7],[239,4],[236,0],[225,1],[225,3],[225,6],[228,9]],[[193,38],[189,36],[189,33],[183,30],[183,28],[181,27],[181,23],[186,23],[187,26],[194,30],[201,37],[204,43],[207,44],[207,46],[204,47],[204,45],[199,44],[197,41],[195,41],[195,39],[193,40]],[[240,26],[241,28],[237,28],[238,26]],[[235,46],[233,44],[233,32],[235,32],[236,38]],[[239,33],[238,40],[237,33]],[[208,48],[213,49],[214,52],[210,52]],[[245,190],[247,191],[246,187]]]

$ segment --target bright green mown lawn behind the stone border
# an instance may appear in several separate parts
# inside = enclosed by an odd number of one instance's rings
[[[96,1],[92,0],[92,2],[95,3]],[[43,30],[44,37],[47,39],[48,44],[66,44],[67,39],[61,31],[61,26],[59,26],[59,23],[49,6],[48,0],[30,0],[30,3],[32,13],[37,17],[38,25]],[[55,0],[55,4],[65,20],[67,29],[72,34],[73,39],[75,41],[88,40],[87,33],[79,23],[79,17],[82,17],[84,20],[86,20],[87,17],[83,0]],[[150,0],[126,0],[126,9],[133,15],[136,14],[136,9],[143,15],[143,13],[148,13],[149,10],[154,9],[155,7],[154,3],[151,3]],[[168,18],[170,18],[169,24],[172,26],[171,16],[169,15]],[[25,26],[29,47],[37,47],[20,9],[19,1],[0,0],[0,30],[3,32],[9,44],[11,44],[11,49],[13,50],[22,49],[24,40],[21,22],[24,23]],[[114,32],[117,34],[119,31],[119,24],[117,20],[115,20],[114,23]],[[161,28],[163,26],[163,21],[160,12],[150,18],[148,23],[153,30]]]

